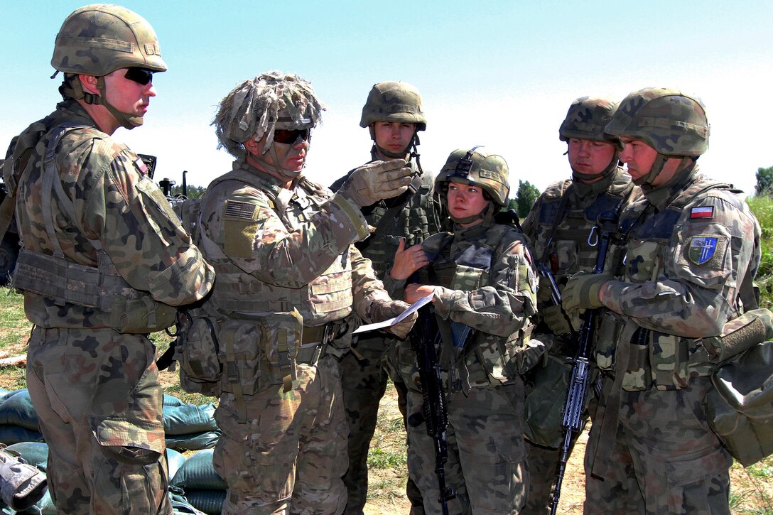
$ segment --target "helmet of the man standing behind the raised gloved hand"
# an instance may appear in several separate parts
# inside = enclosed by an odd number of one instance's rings
[[[360,127],[369,127],[376,121],[399,121],[416,124],[417,131],[427,128],[421,111],[421,94],[407,82],[387,81],[373,84],[363,106]]]

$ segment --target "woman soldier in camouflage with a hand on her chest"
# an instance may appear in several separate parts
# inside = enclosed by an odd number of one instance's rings
[[[433,295],[448,398],[445,479],[456,490],[449,513],[518,513],[528,480],[520,374],[546,349],[530,339],[537,285],[525,238],[512,223],[495,221],[507,204],[507,163],[485,148],[459,149],[435,187],[448,203],[453,232],[413,247],[401,243],[386,284],[407,302]],[[417,282],[406,285],[414,273]],[[423,402],[420,385],[410,381],[408,472],[425,512],[442,513]]]

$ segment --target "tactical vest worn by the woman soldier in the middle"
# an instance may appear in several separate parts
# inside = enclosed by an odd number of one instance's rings
[[[453,234],[446,234],[434,249],[425,248],[431,264],[418,276],[422,284],[444,286],[469,292],[489,284],[489,271],[494,252],[502,240],[515,230],[494,224],[478,240],[470,241],[465,251],[451,257]],[[530,264],[519,266],[516,292],[534,295],[533,273]],[[531,283],[531,284],[530,284]],[[476,331],[459,322],[436,316],[442,338],[441,363],[448,370],[451,390],[469,391],[471,387],[499,386],[516,380],[518,373],[511,361],[528,343],[532,326],[523,328],[506,338]]]

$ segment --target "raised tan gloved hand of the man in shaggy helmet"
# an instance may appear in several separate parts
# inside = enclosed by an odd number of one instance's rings
[[[339,193],[360,207],[401,195],[411,180],[406,164],[405,159],[369,162],[352,172]]]

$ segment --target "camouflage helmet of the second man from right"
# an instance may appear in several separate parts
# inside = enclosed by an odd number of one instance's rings
[[[604,127],[611,121],[618,103],[608,97],[580,97],[569,106],[567,117],[558,129],[562,142],[570,138],[588,139],[594,142],[612,142],[620,145],[617,138],[604,135]]]

